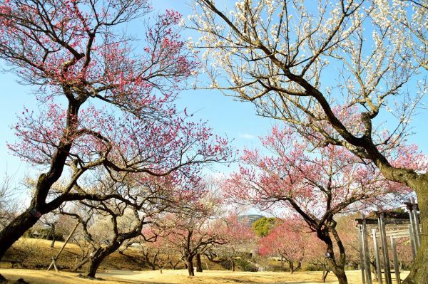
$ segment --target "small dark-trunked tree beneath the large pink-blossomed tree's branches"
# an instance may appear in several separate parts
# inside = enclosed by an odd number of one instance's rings
[[[88,263],[85,275],[95,278],[101,262],[118,251],[123,243],[138,236],[145,238],[142,234],[144,226],[153,223],[153,217],[174,205],[177,192],[167,177],[148,178],[141,174],[128,176],[123,182],[103,177],[91,190],[106,195],[116,194],[121,198],[79,201],[75,205],[80,210],[61,209],[61,214],[71,216],[81,223],[91,252],[76,265],[76,269]],[[146,241],[150,241],[149,238],[145,238]]]

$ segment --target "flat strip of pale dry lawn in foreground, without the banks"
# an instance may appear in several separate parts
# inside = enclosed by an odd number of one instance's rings
[[[190,278],[186,270],[164,270],[161,274],[156,271],[119,271],[107,270],[98,273],[100,280],[88,280],[80,278],[78,273],[54,272],[46,270],[26,270],[26,269],[0,269],[0,273],[9,280],[24,278],[31,284],[126,284],[126,283],[146,283],[146,284],[285,284],[285,283],[320,283],[321,273],[317,271],[297,272],[294,274],[285,272],[231,272],[227,270],[208,270],[203,273],[196,273]],[[402,273],[402,278],[407,273]],[[359,270],[347,271],[348,283],[361,284],[361,273]],[[327,283],[335,284],[335,275],[329,274]]]

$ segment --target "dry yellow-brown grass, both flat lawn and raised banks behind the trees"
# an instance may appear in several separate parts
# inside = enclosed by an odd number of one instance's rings
[[[50,248],[50,241],[40,239],[21,239],[14,244],[14,247],[8,251],[9,259],[21,259],[20,251],[29,250],[29,256],[21,267],[32,269],[7,269],[9,263],[0,263],[0,273],[9,280],[24,278],[31,284],[113,284],[113,283],[161,283],[161,284],[270,284],[270,283],[320,283],[321,272],[297,272],[294,274],[286,272],[235,272],[228,270],[205,270],[203,273],[196,273],[195,278],[189,278],[187,270],[164,270],[163,274],[159,270],[138,271],[144,268],[144,262],[137,250],[130,249],[123,256],[119,253],[113,253],[108,256],[98,270],[97,277],[100,280],[88,280],[80,278],[78,273],[66,271],[46,271],[51,262],[51,257],[55,256],[62,242],[56,242],[55,248]],[[60,270],[66,270],[76,263],[78,255],[78,246],[68,243],[65,250],[58,259]],[[209,263],[211,269],[218,269],[216,263]],[[277,264],[277,263],[276,263]],[[19,266],[19,265],[18,265]],[[205,265],[204,265],[205,266]],[[34,270],[34,268],[44,270]],[[402,273],[402,278],[407,273]],[[347,271],[347,277],[350,284],[361,284],[360,271]],[[337,283],[335,275],[330,273],[327,277],[327,283]]]

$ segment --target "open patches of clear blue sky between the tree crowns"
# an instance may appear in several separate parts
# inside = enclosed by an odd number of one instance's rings
[[[186,18],[191,10],[187,1],[182,0],[154,0],[153,9],[164,11],[174,9]],[[138,23],[137,23],[138,24]],[[183,38],[197,35],[190,31],[183,31]],[[34,174],[31,166],[14,157],[6,147],[6,141],[13,142],[14,135],[11,125],[16,122],[16,114],[22,112],[24,105],[36,108],[36,100],[31,94],[31,88],[17,82],[18,78],[12,73],[0,73],[0,172],[15,175],[15,182],[19,182],[25,174]],[[225,97],[217,90],[186,90],[180,94],[177,101],[179,109],[188,108],[188,112],[195,112],[195,117],[208,120],[213,130],[219,135],[227,135],[233,139],[236,147],[258,147],[258,136],[266,135],[270,127],[277,122],[255,115],[253,105],[248,102],[238,102],[233,98]],[[416,117],[412,126],[415,135],[409,142],[416,143],[428,153],[427,146],[427,111]],[[232,167],[233,169],[234,167]],[[230,169],[216,166],[215,172],[229,172]]]

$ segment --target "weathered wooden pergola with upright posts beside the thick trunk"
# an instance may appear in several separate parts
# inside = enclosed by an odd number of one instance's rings
[[[368,242],[369,230],[372,231],[374,258],[377,267],[377,275],[375,275],[374,280],[377,280],[378,283],[382,284],[383,265],[384,281],[386,284],[392,284],[388,253],[388,238],[392,250],[395,280],[397,284],[401,283],[401,279],[399,275],[397,246],[395,240],[397,238],[410,238],[413,259],[415,258],[421,239],[419,214],[417,213],[419,208],[417,204],[414,203],[414,199],[410,200],[405,205],[407,207],[407,212],[404,213],[374,211],[370,216],[362,215],[361,219],[355,219],[357,221],[357,234],[360,244],[360,261],[363,284],[372,284]]]

